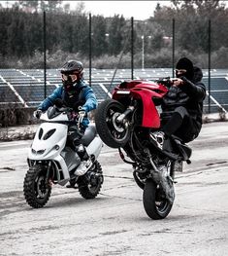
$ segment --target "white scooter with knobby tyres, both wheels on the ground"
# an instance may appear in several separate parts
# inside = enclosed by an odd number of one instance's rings
[[[49,201],[52,184],[64,186],[69,181],[77,185],[81,197],[94,199],[104,181],[101,165],[97,161],[103,143],[95,126],[86,128],[81,138],[92,165],[84,174],[77,175],[81,158],[68,143],[73,109],[56,105],[41,115],[40,119],[46,122],[37,129],[29,149],[29,169],[24,178],[23,191],[25,200],[34,208],[43,207]],[[78,125],[74,128],[80,128],[84,114],[74,112],[74,115],[78,115]]]

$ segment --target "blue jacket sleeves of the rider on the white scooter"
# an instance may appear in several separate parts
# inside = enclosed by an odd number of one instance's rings
[[[97,99],[92,91],[92,89],[83,81],[81,80],[78,82],[76,86],[77,91],[81,91],[79,95],[79,100],[81,100],[83,103],[82,109],[85,111],[85,113],[88,113],[89,111],[96,109],[97,107]],[[48,110],[50,106],[53,105],[54,99],[61,98],[64,99],[64,87],[60,86],[56,88],[39,106],[38,109],[41,109],[42,111]],[[89,120],[87,117],[84,117],[81,125],[84,128],[87,128],[89,124]]]

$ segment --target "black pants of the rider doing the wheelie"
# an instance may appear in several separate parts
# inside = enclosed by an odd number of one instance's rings
[[[197,128],[194,125],[193,118],[184,107],[177,107],[173,115],[167,120],[162,119],[161,130],[167,136],[172,134],[178,136],[183,142],[192,141],[197,135]]]

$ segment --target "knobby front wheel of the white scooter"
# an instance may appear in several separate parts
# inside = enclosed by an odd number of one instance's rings
[[[48,201],[51,185],[47,182],[47,166],[34,165],[27,171],[23,183],[24,198],[33,208],[41,208]]]

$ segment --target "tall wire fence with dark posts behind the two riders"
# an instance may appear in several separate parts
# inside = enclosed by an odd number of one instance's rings
[[[58,68],[68,59],[81,60],[102,101],[124,80],[173,77],[186,55],[203,69],[204,112],[228,110],[228,43],[217,42],[217,20],[186,18],[186,29],[179,18],[0,12],[1,109],[37,107],[61,84]]]

